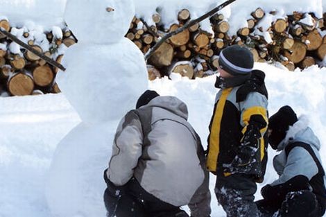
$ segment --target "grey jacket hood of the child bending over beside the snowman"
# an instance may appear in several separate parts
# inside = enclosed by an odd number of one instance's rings
[[[182,117],[183,119],[188,119],[187,105],[175,96],[157,96],[147,105],[144,105],[144,107],[161,107],[164,110],[168,110],[173,114]]]

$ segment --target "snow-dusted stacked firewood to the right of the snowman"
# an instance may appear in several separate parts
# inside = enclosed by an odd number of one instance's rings
[[[264,18],[273,17],[275,21],[264,25]],[[160,15],[153,15],[155,25],[149,26],[135,17],[126,35],[147,53],[160,37],[183,26],[191,14],[183,9],[178,13],[178,23],[165,29]],[[232,44],[247,46],[256,62],[281,62],[289,70],[295,67],[304,69],[317,64],[326,55],[326,36],[324,19],[318,19],[313,13],[293,12],[284,18],[277,17],[276,11],[266,14],[261,8],[251,13],[247,27],[239,29],[237,35],[230,35],[230,24],[221,14],[210,18],[214,34],[208,33],[196,24],[164,42],[148,60],[148,78],[153,80],[171,72],[189,78],[201,78],[216,72],[218,55],[221,49]],[[325,25],[324,25],[325,24]]]

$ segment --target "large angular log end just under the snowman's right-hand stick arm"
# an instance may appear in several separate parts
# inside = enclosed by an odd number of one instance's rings
[[[161,46],[151,55],[148,62],[155,67],[168,67],[173,60],[173,46],[164,42]]]

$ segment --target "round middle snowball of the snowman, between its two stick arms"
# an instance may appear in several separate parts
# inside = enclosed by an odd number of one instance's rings
[[[94,123],[121,116],[144,91],[146,64],[136,48],[123,38],[117,44],[76,44],[67,50],[62,60],[67,70],[56,81],[81,119]]]

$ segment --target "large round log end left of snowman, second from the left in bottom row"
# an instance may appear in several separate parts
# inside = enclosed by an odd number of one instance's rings
[[[54,75],[52,69],[48,65],[36,67],[33,71],[35,85],[47,87],[52,84]]]

